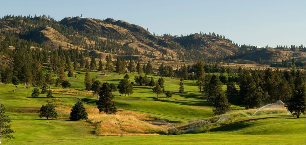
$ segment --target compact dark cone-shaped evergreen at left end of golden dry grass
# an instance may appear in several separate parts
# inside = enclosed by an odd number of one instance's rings
[[[70,120],[78,121],[81,119],[88,119],[87,111],[82,102],[76,102],[70,112]]]

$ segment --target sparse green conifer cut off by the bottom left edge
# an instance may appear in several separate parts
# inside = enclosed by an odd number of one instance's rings
[[[1,144],[1,139],[2,137],[7,139],[7,138],[14,138],[11,133],[14,133],[15,131],[11,129],[11,125],[8,123],[12,122],[11,119],[7,118],[9,117],[8,115],[5,115],[4,112],[5,107],[3,104],[0,105],[0,144]]]

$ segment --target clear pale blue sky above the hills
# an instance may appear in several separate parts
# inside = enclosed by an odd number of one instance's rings
[[[46,14],[61,20],[113,18],[156,34],[215,32],[239,44],[306,45],[306,1],[298,0],[6,0],[0,16]]]

